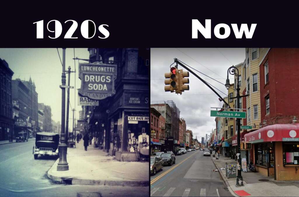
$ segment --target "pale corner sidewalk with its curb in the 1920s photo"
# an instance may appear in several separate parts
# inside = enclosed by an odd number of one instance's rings
[[[122,162],[99,148],[89,145],[84,150],[83,140],[76,148],[68,148],[69,170],[57,171],[59,158],[48,171],[48,177],[67,184],[149,186],[148,162]]]

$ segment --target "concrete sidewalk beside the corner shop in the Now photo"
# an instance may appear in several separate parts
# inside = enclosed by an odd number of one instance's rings
[[[234,196],[299,196],[299,181],[276,181],[274,177],[268,177],[259,172],[242,172],[243,185],[236,187],[237,178],[227,178],[225,175],[225,163],[237,164],[237,161],[220,155],[219,159],[211,158],[219,170],[226,187]],[[236,172],[237,173],[237,172]],[[269,181],[259,181],[267,179]]]

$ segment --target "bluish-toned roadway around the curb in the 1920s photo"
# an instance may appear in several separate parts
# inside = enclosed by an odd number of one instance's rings
[[[35,141],[0,145],[0,196],[134,196],[144,194],[148,187],[121,187],[98,185],[65,185],[53,183],[47,177],[47,171],[57,158],[41,157],[35,160],[32,148]],[[80,142],[82,143],[82,141]],[[89,194],[93,193],[93,194]],[[142,195],[144,196],[144,195]]]

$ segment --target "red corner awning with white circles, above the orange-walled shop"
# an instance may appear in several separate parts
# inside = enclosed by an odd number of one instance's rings
[[[299,123],[274,124],[265,126],[254,132],[246,134],[245,141],[251,143],[272,141],[297,141],[299,142]]]

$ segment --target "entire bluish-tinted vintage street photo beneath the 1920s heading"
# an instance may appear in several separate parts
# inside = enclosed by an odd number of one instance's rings
[[[149,48],[0,58],[0,196],[149,196]]]

